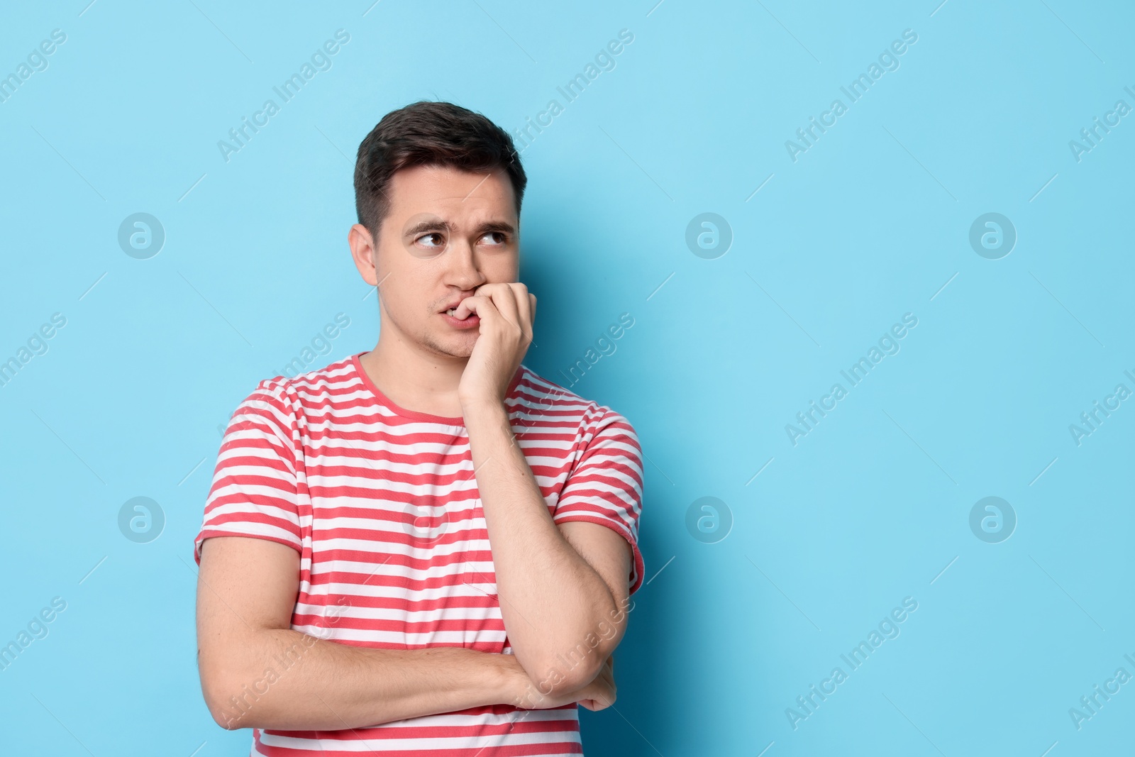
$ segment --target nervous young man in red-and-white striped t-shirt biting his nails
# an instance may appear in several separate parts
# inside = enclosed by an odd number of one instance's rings
[[[354,182],[378,344],[229,422],[194,552],[205,703],[257,755],[581,754],[642,582],[638,437],[521,363],[507,133],[413,103]]]

